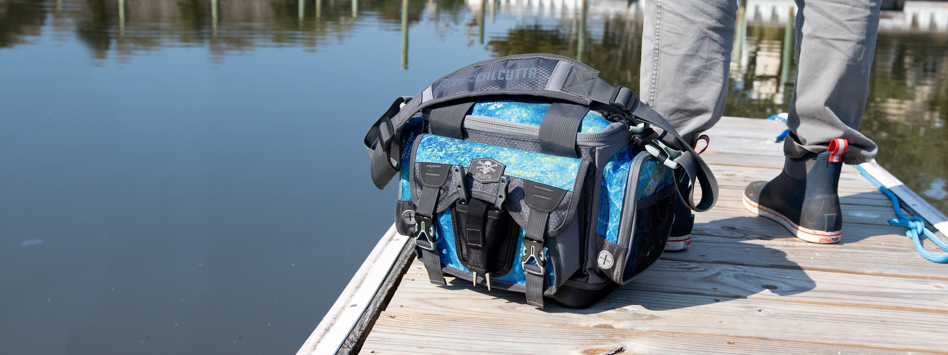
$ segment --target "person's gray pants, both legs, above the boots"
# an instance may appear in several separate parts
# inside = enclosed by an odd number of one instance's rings
[[[639,97],[691,139],[724,112],[736,0],[644,0]],[[796,80],[784,153],[849,142],[847,164],[878,149],[859,123],[866,108],[881,0],[796,0]]]

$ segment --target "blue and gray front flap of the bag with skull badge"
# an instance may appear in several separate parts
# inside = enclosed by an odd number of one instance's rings
[[[434,167],[443,166],[452,167],[451,171],[460,168],[463,173],[447,174],[435,212],[459,199],[477,198],[487,204],[500,203],[520,226],[527,225],[531,212],[549,213],[548,236],[556,237],[574,218],[590,162],[422,134],[412,147],[412,200],[418,202],[425,189],[441,183],[443,168]],[[501,177],[509,179],[504,191],[499,189]]]

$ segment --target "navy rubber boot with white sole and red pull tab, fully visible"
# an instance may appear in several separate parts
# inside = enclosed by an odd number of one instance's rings
[[[757,181],[744,189],[744,207],[780,223],[801,240],[841,240],[843,214],[837,187],[846,146],[845,139],[833,139],[830,151],[786,158],[774,180]]]

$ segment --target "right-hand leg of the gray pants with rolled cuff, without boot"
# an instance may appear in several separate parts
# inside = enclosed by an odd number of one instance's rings
[[[848,140],[847,164],[872,160],[878,149],[859,123],[866,109],[881,0],[797,0],[796,82],[784,144],[792,158]]]

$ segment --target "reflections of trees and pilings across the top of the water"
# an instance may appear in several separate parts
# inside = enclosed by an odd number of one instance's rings
[[[725,115],[787,111],[794,7],[790,0],[747,0],[740,8]],[[411,37],[411,27],[423,25],[440,38],[466,31],[468,45],[494,56],[573,57],[633,89],[643,23],[641,5],[624,0],[0,0],[0,9],[0,50],[48,28],[60,41],[75,33],[101,61],[195,46],[224,62],[261,46],[316,50],[344,42],[358,26],[381,26],[401,30],[408,69],[410,39],[415,50],[436,45]],[[862,130],[880,144],[886,168],[948,211],[948,4],[907,1],[903,11],[883,11],[880,27]]]

